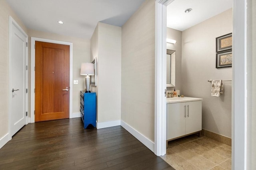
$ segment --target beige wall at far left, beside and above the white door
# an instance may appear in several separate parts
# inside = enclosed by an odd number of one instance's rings
[[[0,139],[8,133],[9,16],[12,16],[20,27],[28,33],[27,28],[6,0],[0,0]]]

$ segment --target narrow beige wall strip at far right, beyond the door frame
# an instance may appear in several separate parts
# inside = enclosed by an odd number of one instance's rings
[[[256,1],[249,0],[247,27],[247,168],[256,169]]]

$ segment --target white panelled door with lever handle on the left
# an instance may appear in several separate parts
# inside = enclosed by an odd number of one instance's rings
[[[9,18],[9,133],[12,137],[27,123],[28,35]]]

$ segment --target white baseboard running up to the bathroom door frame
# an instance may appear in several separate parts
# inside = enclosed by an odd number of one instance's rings
[[[130,134],[132,134],[134,137],[136,137],[143,145],[145,145],[148,149],[150,149],[152,152],[154,152],[154,142],[150,141],[147,137],[133,129],[130,125],[125,123],[124,121],[121,120],[121,126],[126,129]]]

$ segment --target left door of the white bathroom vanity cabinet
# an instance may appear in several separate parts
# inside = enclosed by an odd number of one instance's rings
[[[186,103],[167,104],[167,140],[185,135]]]

